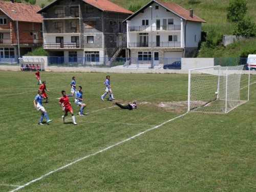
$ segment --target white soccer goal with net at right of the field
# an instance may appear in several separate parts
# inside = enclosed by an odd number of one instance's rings
[[[223,114],[247,102],[248,100],[240,99],[240,80],[243,68],[242,65],[190,69],[188,111]]]

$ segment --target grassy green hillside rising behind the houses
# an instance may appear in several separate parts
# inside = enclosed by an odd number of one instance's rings
[[[100,0],[99,0],[100,1]],[[130,6],[144,6],[150,0],[109,0],[121,7],[129,9]],[[164,0],[162,0],[164,1]],[[53,0],[37,0],[36,5],[42,6],[52,3]],[[229,0],[165,0],[165,2],[178,4],[186,10],[193,9],[194,14],[204,19],[207,23],[202,24],[202,31],[215,30],[219,35],[232,35],[233,27],[227,22],[226,8],[229,5]],[[255,0],[247,1],[247,15],[256,23]],[[256,39],[250,38],[229,45],[227,48],[218,46],[215,48],[201,47],[198,57],[238,57],[244,50],[253,50],[255,48]]]

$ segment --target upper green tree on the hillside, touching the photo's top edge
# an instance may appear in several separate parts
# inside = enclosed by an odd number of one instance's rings
[[[247,11],[246,0],[233,0],[227,7],[227,20],[229,22],[239,22],[242,20]]]

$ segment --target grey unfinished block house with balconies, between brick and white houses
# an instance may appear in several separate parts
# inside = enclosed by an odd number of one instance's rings
[[[56,0],[37,13],[42,15],[44,49],[48,56],[69,58],[63,62],[98,61],[112,57],[123,43],[126,48],[122,21],[133,14],[107,0]]]

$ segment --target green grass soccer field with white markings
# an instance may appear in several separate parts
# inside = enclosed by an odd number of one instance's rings
[[[102,101],[111,76],[116,102]],[[82,86],[84,116],[65,123],[61,91]],[[187,74],[40,72],[52,122],[33,99],[34,72],[0,71],[0,191],[255,191],[256,76],[250,100],[228,114],[187,112]],[[247,99],[248,75],[241,97]],[[108,98],[109,94],[105,97]]]

